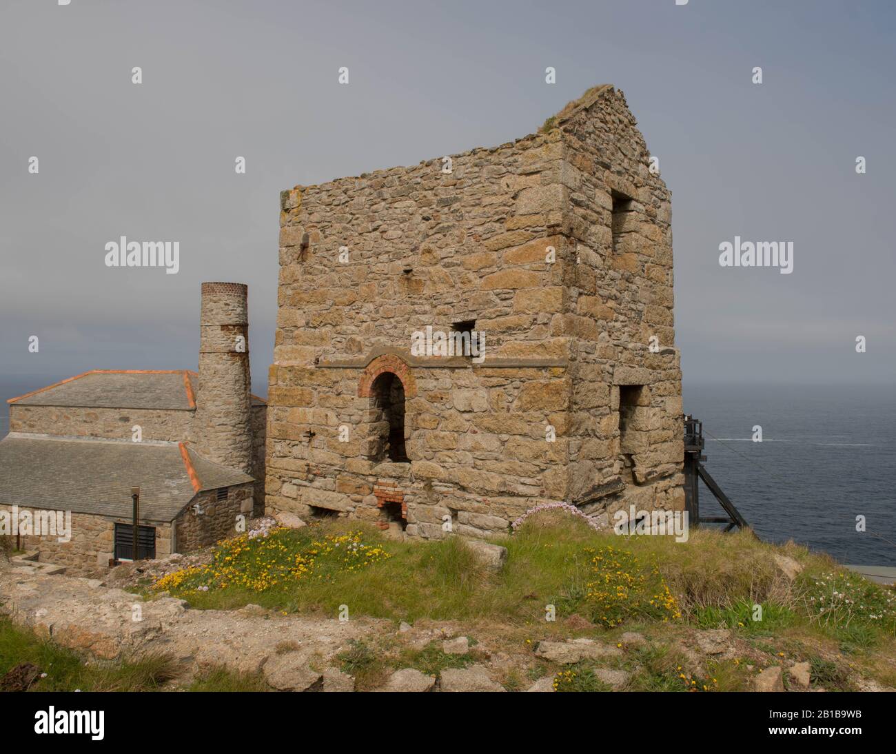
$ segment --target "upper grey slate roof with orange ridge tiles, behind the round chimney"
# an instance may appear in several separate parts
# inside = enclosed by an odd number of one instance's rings
[[[198,378],[197,373],[186,369],[94,369],[10,398],[7,403],[16,406],[193,410]],[[264,401],[252,396],[252,405],[263,406]]]

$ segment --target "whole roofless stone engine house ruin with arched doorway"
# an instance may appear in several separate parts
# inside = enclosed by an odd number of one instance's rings
[[[683,509],[670,194],[621,91],[280,204],[268,512],[441,537]]]

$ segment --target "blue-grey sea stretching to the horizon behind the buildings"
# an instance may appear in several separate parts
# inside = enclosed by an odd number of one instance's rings
[[[63,377],[0,377],[0,437],[7,398]],[[763,540],[896,566],[894,386],[685,381],[683,392],[703,423],[704,466]],[[702,484],[700,501],[702,516],[723,514]]]

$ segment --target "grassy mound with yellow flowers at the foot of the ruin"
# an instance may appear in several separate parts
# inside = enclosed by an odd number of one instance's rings
[[[606,629],[631,621],[681,621],[746,633],[799,626],[857,646],[892,638],[896,594],[794,544],[748,534],[599,534],[582,520],[547,512],[503,540],[507,562],[487,570],[460,538],[390,541],[375,527],[333,521],[240,536],[207,566],[154,584],[196,608],[261,604],[281,612],[353,613],[396,621],[544,621],[573,613]],[[802,568],[788,578],[787,562]],[[798,565],[797,565],[798,564]],[[796,569],[795,569],[796,570]],[[792,575],[792,574],[791,574]],[[754,605],[762,614],[754,620]]]

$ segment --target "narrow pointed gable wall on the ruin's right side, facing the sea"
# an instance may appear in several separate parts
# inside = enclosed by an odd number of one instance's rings
[[[680,507],[681,372],[675,349],[670,194],[621,92],[610,90],[564,124],[570,232],[576,265],[571,311],[579,327],[573,378],[573,500],[614,510]],[[629,211],[616,216],[613,193]],[[620,205],[622,206],[622,205]],[[655,336],[658,353],[650,352]],[[644,385],[620,443],[620,385]],[[623,486],[625,485],[625,486]]]

